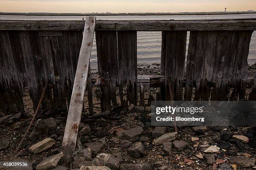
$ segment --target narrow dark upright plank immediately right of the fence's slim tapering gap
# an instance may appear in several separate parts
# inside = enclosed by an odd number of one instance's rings
[[[197,46],[197,31],[190,31],[189,47],[187,52],[187,82],[184,93],[184,100],[192,100],[192,90],[194,84],[194,69],[195,69],[195,52]]]

